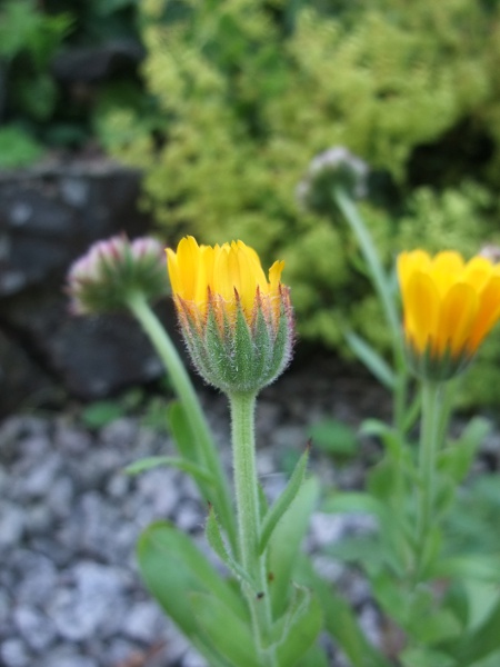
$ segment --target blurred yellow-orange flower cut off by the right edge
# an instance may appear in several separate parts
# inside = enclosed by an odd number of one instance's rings
[[[453,250],[398,257],[404,337],[417,375],[447,380],[470,362],[500,318],[500,266]]]

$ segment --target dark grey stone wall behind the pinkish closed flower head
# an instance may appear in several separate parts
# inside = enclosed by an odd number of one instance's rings
[[[70,263],[92,242],[148,233],[139,192],[140,173],[106,160],[0,173],[0,416],[98,399],[161,374],[130,318],[74,318],[63,292]]]

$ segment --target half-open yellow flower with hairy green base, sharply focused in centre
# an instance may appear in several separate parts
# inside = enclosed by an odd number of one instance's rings
[[[287,367],[293,342],[284,262],[266,277],[242,241],[199,246],[183,238],[167,249],[181,330],[200,375],[226,394],[257,392]]]

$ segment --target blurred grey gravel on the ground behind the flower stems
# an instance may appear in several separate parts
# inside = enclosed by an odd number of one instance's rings
[[[303,394],[303,384],[296,389]],[[230,469],[226,400],[210,392],[202,399]],[[322,387],[308,400],[300,401],[292,387],[283,407],[279,388],[270,388],[259,404],[257,429],[264,446],[258,467],[270,498],[284,485],[278,472],[282,451],[303,448],[311,414],[316,419],[321,409],[348,410]],[[144,590],[134,558],[140,531],[159,518],[204,545],[206,507],[189,478],[163,467],[137,477],[123,474],[141,457],[172,452],[170,438],[144,428],[139,418],[97,431],[71,414],[13,416],[0,425],[2,667],[204,667]],[[333,479],[337,472],[326,475]],[[360,529],[370,529],[366,517],[318,512],[308,545],[318,549]],[[338,563],[318,557],[318,567],[347,580]],[[347,586],[377,641],[378,616],[366,583],[354,577]],[[338,657],[332,664],[343,663]]]

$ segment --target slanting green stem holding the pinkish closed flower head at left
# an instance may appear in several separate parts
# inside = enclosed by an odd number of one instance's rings
[[[189,416],[189,426],[193,441],[199,454],[200,464],[204,465],[213,479],[216,497],[213,506],[216,507],[221,524],[224,526],[228,539],[234,552],[237,549],[236,519],[232,510],[231,496],[228,481],[223,472],[216,445],[211,437],[210,428],[207,424],[203,410],[198,400],[198,396],[191,384],[188,371],[176,349],[176,346],[167,335],[160,320],[157,318],[144,296],[136,292],[129,296],[128,306],[148,335],[151,344],[163,361],[176,395],[181,401],[186,414]],[[200,484],[199,484],[200,486]],[[204,494],[202,485],[200,490]]]

